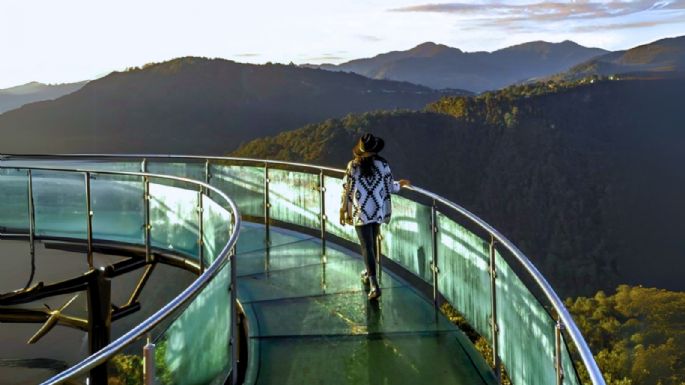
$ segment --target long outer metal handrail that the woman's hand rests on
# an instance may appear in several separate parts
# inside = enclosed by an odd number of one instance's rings
[[[324,170],[324,171],[329,171],[329,172],[335,172],[335,173],[343,173],[344,170],[342,169],[337,169],[337,168],[332,168],[332,167],[321,167],[321,166],[315,166],[311,164],[305,164],[305,163],[296,163],[296,162],[287,162],[287,161],[279,161],[279,160],[265,160],[265,159],[253,159],[253,158],[239,158],[239,157],[220,157],[220,156],[200,156],[200,155],[156,155],[156,154],[64,154],[64,155],[8,155],[8,158],[11,159],[12,157],[17,157],[17,158],[37,158],[37,157],[55,157],[55,158],[69,158],[69,157],[74,157],[74,158],[158,158],[158,159],[194,159],[194,160],[218,160],[218,161],[238,161],[238,162],[248,162],[248,163],[255,163],[257,165],[283,165],[283,166],[291,166],[291,167],[301,167],[305,169],[311,169],[311,170]],[[578,329],[578,326],[576,325],[575,321],[573,321],[573,317],[571,314],[568,312],[566,307],[564,306],[563,302],[557,295],[557,293],[552,289],[552,286],[547,282],[547,280],[544,278],[544,276],[540,273],[540,271],[533,265],[533,263],[528,259],[528,257],[521,252],[518,247],[516,247],[509,239],[507,239],[505,236],[503,236],[499,231],[497,231],[495,228],[490,226],[487,222],[484,220],[480,219],[477,215],[471,213],[464,207],[440,196],[437,194],[434,194],[430,191],[424,190],[420,187],[416,186],[409,186],[407,188],[408,190],[414,191],[428,199],[432,199],[436,202],[440,202],[441,204],[445,205],[446,207],[449,207],[459,214],[463,215],[470,221],[472,221],[474,224],[479,226],[481,229],[485,230],[489,235],[491,235],[494,239],[496,239],[499,243],[501,243],[509,252],[516,258],[516,260],[523,266],[525,271],[530,275],[531,278],[535,281],[535,283],[539,286],[539,288],[542,290],[542,292],[545,294],[549,302],[551,303],[552,307],[554,310],[557,312],[561,322],[563,325],[566,327],[569,336],[571,337],[571,340],[573,341],[574,345],[578,349],[578,352],[580,354],[580,358],[583,362],[583,365],[588,371],[588,374],[590,376],[590,379],[593,383],[593,385],[606,385],[606,382],[601,374],[601,371],[599,370],[599,367],[597,366],[597,363],[595,362],[595,359],[592,355],[592,352],[587,345],[587,342],[585,341],[585,338],[582,336],[580,333],[580,329]]]

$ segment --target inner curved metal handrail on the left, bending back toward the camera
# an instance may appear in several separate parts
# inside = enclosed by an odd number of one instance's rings
[[[213,191],[214,193],[218,194],[221,198],[223,198],[231,207],[231,210],[233,211],[233,218],[234,218],[234,223],[233,223],[233,231],[231,233],[231,236],[224,246],[224,248],[221,250],[221,253],[219,253],[219,256],[214,260],[214,262],[205,270],[195,281],[193,281],[185,290],[181,292],[178,296],[176,296],[173,300],[171,300],[169,303],[164,305],[161,309],[156,311],[154,314],[152,314],[150,317],[145,319],[143,322],[138,324],[136,327],[133,329],[129,330],[127,333],[122,335],[121,337],[117,338],[116,340],[112,341],[110,344],[105,346],[104,348],[98,350],[94,354],[88,356],[78,364],[58,373],[57,375],[49,378],[45,382],[41,383],[41,385],[57,385],[60,384],[66,380],[73,379],[75,376],[82,375],[85,372],[89,371],[90,369],[106,362],[109,360],[111,357],[113,357],[116,353],[124,349],[126,346],[128,346],[130,343],[138,340],[139,338],[142,338],[146,333],[151,331],[155,326],[159,325],[161,322],[163,322],[169,315],[171,315],[174,311],[177,309],[181,308],[182,306],[186,305],[190,300],[195,298],[199,292],[209,284],[209,282],[214,278],[218,273],[219,270],[228,262],[229,258],[232,258],[231,250],[235,246],[237,240],[238,240],[238,235],[239,235],[239,229],[241,226],[241,218],[240,214],[238,212],[238,207],[236,206],[235,202],[229,198],[226,194],[224,194],[222,191],[217,189],[216,187],[210,186],[207,183],[196,181],[193,179],[189,178],[183,178],[183,177],[177,177],[177,176],[171,176],[171,175],[162,175],[162,174],[152,174],[152,173],[144,173],[144,172],[126,172],[126,171],[98,171],[98,170],[90,170],[90,169],[64,169],[64,168],[50,168],[50,167],[16,167],[16,166],[2,166],[0,165],[0,169],[31,169],[31,170],[40,170],[40,171],[58,171],[58,172],[70,172],[70,173],[90,173],[92,175],[127,175],[127,176],[141,176],[141,177],[148,177],[148,178],[160,178],[160,179],[167,179],[167,180],[175,180],[179,182],[185,182],[185,183],[190,183],[190,184],[195,184],[201,187],[204,187],[208,190]],[[235,274],[233,274],[235,270],[235,261],[231,261],[231,270],[232,270],[232,277],[235,277]],[[233,290],[231,291],[231,299],[232,299],[232,308],[235,307],[235,282],[231,282],[233,285]],[[235,309],[233,309],[235,310]],[[235,321],[235,313],[232,314],[232,322]],[[235,325],[233,325],[233,333],[235,333]]]

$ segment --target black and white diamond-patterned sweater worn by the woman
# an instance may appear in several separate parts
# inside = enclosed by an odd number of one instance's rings
[[[392,215],[390,194],[399,191],[400,184],[393,180],[385,159],[374,160],[373,175],[368,178],[361,175],[354,161],[350,161],[343,178],[341,215],[347,213],[349,225],[388,223]]]

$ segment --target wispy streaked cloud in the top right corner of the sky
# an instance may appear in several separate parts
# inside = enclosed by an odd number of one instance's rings
[[[685,11],[685,0],[633,0],[633,1],[538,1],[511,3],[496,1],[492,3],[436,3],[390,9],[391,12],[429,12],[453,14],[464,17],[466,24],[480,27],[500,27],[508,30],[525,30],[527,28],[544,28],[544,24],[555,22],[590,22],[616,20],[638,15],[646,16],[682,16]],[[660,18],[649,21],[610,23],[608,29],[639,28],[660,24],[671,24],[673,18]],[[528,27],[526,27],[528,26]],[[622,27],[625,26],[625,27]],[[582,28],[589,26],[581,26]]]

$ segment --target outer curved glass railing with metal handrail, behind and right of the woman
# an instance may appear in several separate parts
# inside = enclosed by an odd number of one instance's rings
[[[83,165],[98,159],[100,167],[137,164],[144,170],[204,180],[231,196],[245,219],[265,224],[267,244],[270,225],[320,235],[324,261],[326,242],[357,242],[354,229],[339,224],[342,170],[218,157],[68,159]],[[2,164],[46,161],[54,159],[7,157]],[[20,191],[11,193],[22,196]],[[515,385],[575,385],[581,383],[576,367],[582,367],[593,384],[605,383],[557,294],[528,258],[487,223],[457,204],[412,187],[393,198],[393,219],[384,227],[383,260],[428,288],[436,307],[447,302],[459,311],[488,341],[497,374],[502,365]]]

